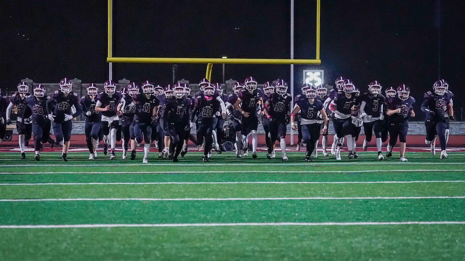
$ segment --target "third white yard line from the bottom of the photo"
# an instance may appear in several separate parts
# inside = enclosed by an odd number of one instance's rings
[[[35,185],[197,185],[197,184],[392,184],[392,183],[453,183],[465,180],[415,180],[415,181],[231,181],[231,182],[91,182],[91,183],[0,183],[0,186]]]

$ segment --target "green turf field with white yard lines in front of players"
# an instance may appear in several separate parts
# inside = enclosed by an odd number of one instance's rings
[[[258,154],[0,153],[0,260],[465,260],[465,153]]]

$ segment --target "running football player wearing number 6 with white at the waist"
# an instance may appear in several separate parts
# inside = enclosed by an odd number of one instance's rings
[[[124,108],[126,101],[121,96],[119,91],[116,91],[116,83],[106,81],[103,85],[105,92],[100,92],[97,95],[97,104],[95,110],[102,113],[102,132],[103,132],[103,154],[108,153],[108,142],[112,147],[110,159],[115,159],[116,147],[116,132],[122,113],[121,108]]]

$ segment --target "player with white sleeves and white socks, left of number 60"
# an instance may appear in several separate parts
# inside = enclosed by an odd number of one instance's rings
[[[18,84],[18,90],[10,97],[10,104],[7,107],[7,125],[11,124],[11,110],[16,106],[18,110],[18,119],[16,120],[16,129],[18,130],[18,142],[20,144],[21,159],[26,159],[25,147],[32,135],[32,119],[22,119],[24,109],[26,108],[26,98],[29,97],[29,86],[25,82]]]

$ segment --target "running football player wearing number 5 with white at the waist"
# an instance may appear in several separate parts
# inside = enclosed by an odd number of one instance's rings
[[[296,107],[291,113],[291,127],[293,130],[297,130],[294,122],[295,115],[300,113],[302,142],[306,144],[307,148],[305,161],[312,161],[310,155],[314,150],[316,142],[319,140],[319,135],[325,134],[328,130],[328,116],[323,108],[323,102],[317,99],[317,89],[314,86],[305,83],[302,87],[302,94],[297,95],[296,98]],[[323,116],[323,120],[319,117],[319,114]],[[321,129],[322,121],[325,125],[323,129]]]

